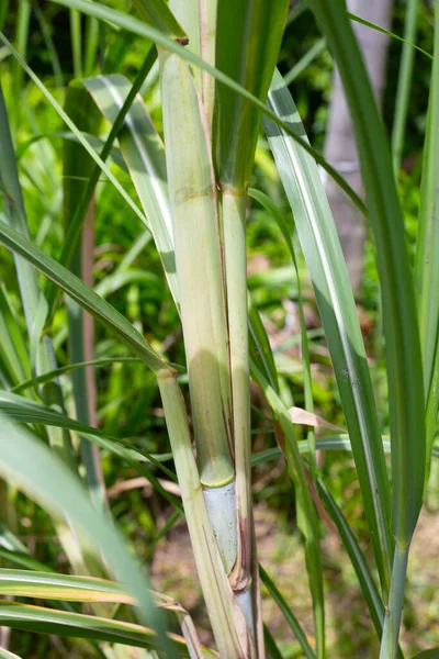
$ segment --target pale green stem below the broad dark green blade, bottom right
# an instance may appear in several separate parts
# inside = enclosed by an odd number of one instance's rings
[[[407,576],[409,545],[404,549],[395,546],[389,606],[384,617],[380,659],[396,659],[401,618],[404,606],[404,588]]]

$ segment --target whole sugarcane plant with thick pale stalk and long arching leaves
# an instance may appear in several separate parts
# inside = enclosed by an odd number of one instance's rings
[[[263,626],[261,580],[278,602],[303,656],[326,656],[319,548],[323,506],[358,576],[381,641],[380,658],[402,657],[398,637],[408,552],[428,484],[439,407],[439,275],[434,267],[439,250],[438,59],[432,63],[413,273],[391,152],[344,0],[309,0],[308,5],[339,68],[349,101],[365,201],[312,148],[290,91],[275,69],[288,0],[134,0],[134,13],[95,1],[50,1],[70,11],[76,79],[64,108],[26,64],[23,35],[20,33],[14,47],[0,33],[14,60],[11,89],[22,85],[24,70],[68,129],[61,135],[64,245],[55,260],[30,239],[14,145],[16,118],[11,120],[0,88],[0,242],[14,254],[27,332],[23,338],[7,288],[1,288],[0,412],[5,433],[0,438],[0,469],[5,480],[12,476],[14,483],[54,513],[75,576],[50,574],[8,530],[2,537],[9,545],[2,543],[0,557],[26,571],[1,568],[0,593],[59,600],[65,606],[43,608],[4,600],[0,602],[0,625],[89,638],[97,656],[102,651],[109,657],[120,656],[109,644],[144,648],[139,657],[156,652],[167,657],[216,656],[215,650],[202,646],[180,604],[168,594],[149,592],[142,571],[109,522],[97,449],[101,447],[134,466],[175,506],[169,527],[184,514],[221,657],[281,657],[277,639]],[[29,27],[24,4],[25,0],[20,2],[22,31]],[[85,63],[81,15],[88,21]],[[0,13],[0,22],[3,18]],[[94,75],[101,29],[119,30],[117,48],[130,47],[126,34],[144,40],[145,60],[133,85],[116,67]],[[117,48],[112,53],[115,60]],[[108,59],[111,66],[111,57]],[[139,93],[155,68],[162,135]],[[101,116],[111,124],[102,148],[93,135],[99,133]],[[285,219],[267,194],[249,188],[262,126],[294,222]],[[399,161],[401,139],[399,135],[395,163]],[[142,209],[108,165],[110,156],[131,177]],[[371,223],[386,345],[390,446],[383,442],[356,304],[317,163]],[[102,174],[143,222],[145,235],[154,239],[181,319],[185,368],[170,365],[154,349],[92,289],[90,272],[85,271],[81,243],[85,226],[93,222],[95,189]],[[306,410],[296,423],[284,400],[264,326],[247,291],[250,199],[278,223],[297,277]],[[313,432],[317,417],[295,233],[337,380],[347,425],[345,437],[316,440]],[[37,270],[48,280],[45,284]],[[52,337],[61,291],[70,300],[69,368],[76,373],[76,418],[67,414],[58,380],[63,369],[56,364]],[[90,366],[98,366],[99,359],[92,359],[83,335],[85,312],[140,360],[145,371],[155,375],[176,468],[176,473],[166,472],[177,479],[181,503],[156,478],[155,468],[166,469],[160,461],[94,427]],[[187,396],[180,387],[182,372],[188,376]],[[251,494],[251,465],[257,456],[251,453],[250,378],[271,410],[277,455],[284,457],[294,485],[312,594],[314,644],[258,563]],[[27,428],[11,420],[27,424]],[[300,440],[297,423],[309,427],[305,442]],[[88,494],[78,482],[76,437],[80,438]],[[10,442],[12,449],[8,449]],[[317,448],[346,447],[352,451],[357,468],[380,585],[318,473]],[[385,461],[389,449],[392,478]],[[27,460],[23,460],[23,451]],[[82,535],[88,543],[79,541]],[[108,570],[124,585],[103,579]],[[92,603],[94,615],[72,610],[66,604],[69,601]],[[135,606],[140,624],[112,619],[109,602]],[[177,614],[182,637],[167,632],[158,607]]]

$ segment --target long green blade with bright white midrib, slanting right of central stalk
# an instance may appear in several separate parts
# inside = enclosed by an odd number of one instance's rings
[[[274,77],[269,103],[305,135],[279,74]],[[364,345],[341,247],[315,161],[274,124],[266,121],[264,126],[316,293],[352,442],[380,580],[387,593],[393,558],[390,484]]]

